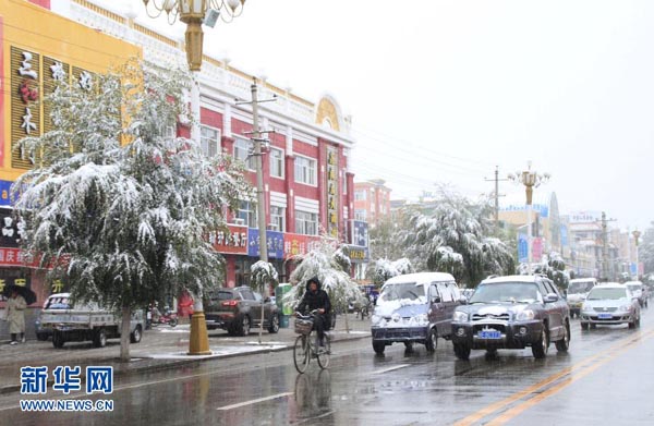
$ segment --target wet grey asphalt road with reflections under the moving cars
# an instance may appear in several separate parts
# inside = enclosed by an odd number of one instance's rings
[[[654,312],[654,309],[652,309]],[[117,378],[112,413],[23,413],[0,398],[1,425],[652,425],[654,314],[642,326],[582,332],[570,352],[473,351],[456,360],[439,340],[376,356],[370,339],[334,346],[328,370],[304,375],[292,352],[198,363]],[[74,395],[86,399],[86,395]],[[53,398],[53,397],[50,397]],[[94,397],[94,399],[98,399]]]

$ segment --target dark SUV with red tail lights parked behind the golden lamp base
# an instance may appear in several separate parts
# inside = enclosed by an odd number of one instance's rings
[[[262,303],[264,318],[262,321]],[[252,327],[263,327],[268,332],[279,331],[279,311],[270,297],[262,295],[250,287],[221,288],[209,292],[205,303],[207,329],[223,329],[230,336],[247,336]]]

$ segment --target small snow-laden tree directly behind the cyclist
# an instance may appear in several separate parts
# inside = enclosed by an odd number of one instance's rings
[[[305,255],[295,256],[293,261],[296,267],[290,277],[293,288],[284,296],[286,300],[291,301],[293,307],[296,306],[304,295],[306,282],[317,277],[323,290],[329,295],[332,309],[347,313],[350,302],[363,303],[363,294],[359,285],[342,268],[346,263],[343,256],[346,256],[344,252],[336,248],[334,240],[328,238],[323,238],[318,247]],[[346,324],[347,321],[346,315]]]

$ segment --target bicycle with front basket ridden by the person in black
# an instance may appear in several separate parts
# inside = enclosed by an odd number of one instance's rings
[[[329,333],[325,331],[324,350],[318,350],[318,336],[313,330],[315,316],[316,311],[312,311],[308,315],[298,315],[295,318],[295,332],[300,336],[298,336],[293,345],[293,362],[300,374],[306,372],[312,357],[317,358],[320,368],[325,369],[329,366],[331,339]]]

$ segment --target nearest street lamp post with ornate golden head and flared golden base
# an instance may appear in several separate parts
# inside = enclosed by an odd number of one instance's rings
[[[189,63],[189,70],[193,73],[191,110],[197,119],[192,124],[191,137],[199,141],[199,78],[197,78],[197,73],[202,68],[203,58],[204,33],[202,25],[206,24],[213,27],[218,17],[226,23],[231,22],[243,12],[245,0],[143,0],[143,4],[150,17],[156,19],[166,13],[169,24],[173,24],[178,17],[186,24],[184,38],[186,62]],[[194,297],[189,355],[207,355],[211,353],[202,297],[201,289]]]

